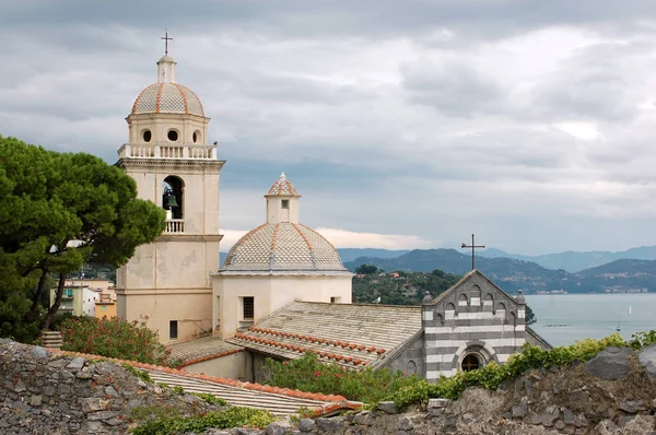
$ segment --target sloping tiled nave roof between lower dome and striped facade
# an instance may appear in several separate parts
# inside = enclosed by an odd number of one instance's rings
[[[296,301],[229,341],[281,358],[378,366],[421,330],[421,307]]]

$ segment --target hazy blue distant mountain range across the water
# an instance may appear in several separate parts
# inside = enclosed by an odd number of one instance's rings
[[[455,249],[415,249],[396,258],[360,257],[344,263],[351,271],[361,264],[373,264],[388,272],[430,272],[441,269],[449,273],[465,274],[471,269],[471,257]],[[616,260],[577,273],[502,257],[477,257],[476,267],[509,292],[518,289],[527,293],[553,290],[569,293],[656,292],[655,260]]]

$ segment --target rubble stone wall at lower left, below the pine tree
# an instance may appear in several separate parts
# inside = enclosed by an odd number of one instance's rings
[[[125,434],[136,407],[212,408],[145,383],[118,364],[0,339],[1,434]]]

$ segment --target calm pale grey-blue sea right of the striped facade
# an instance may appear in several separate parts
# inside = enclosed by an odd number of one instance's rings
[[[530,327],[554,346],[656,330],[656,293],[526,295],[526,304],[538,318]]]

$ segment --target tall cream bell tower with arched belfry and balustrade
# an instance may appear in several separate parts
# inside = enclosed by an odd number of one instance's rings
[[[166,228],[137,248],[116,277],[117,314],[145,321],[160,341],[212,329],[212,283],[219,269],[219,173],[225,163],[207,143],[209,118],[198,96],[176,82],[175,60],[157,61],[157,81],[126,118],[129,142],[117,166],[138,196],[166,210]]]

